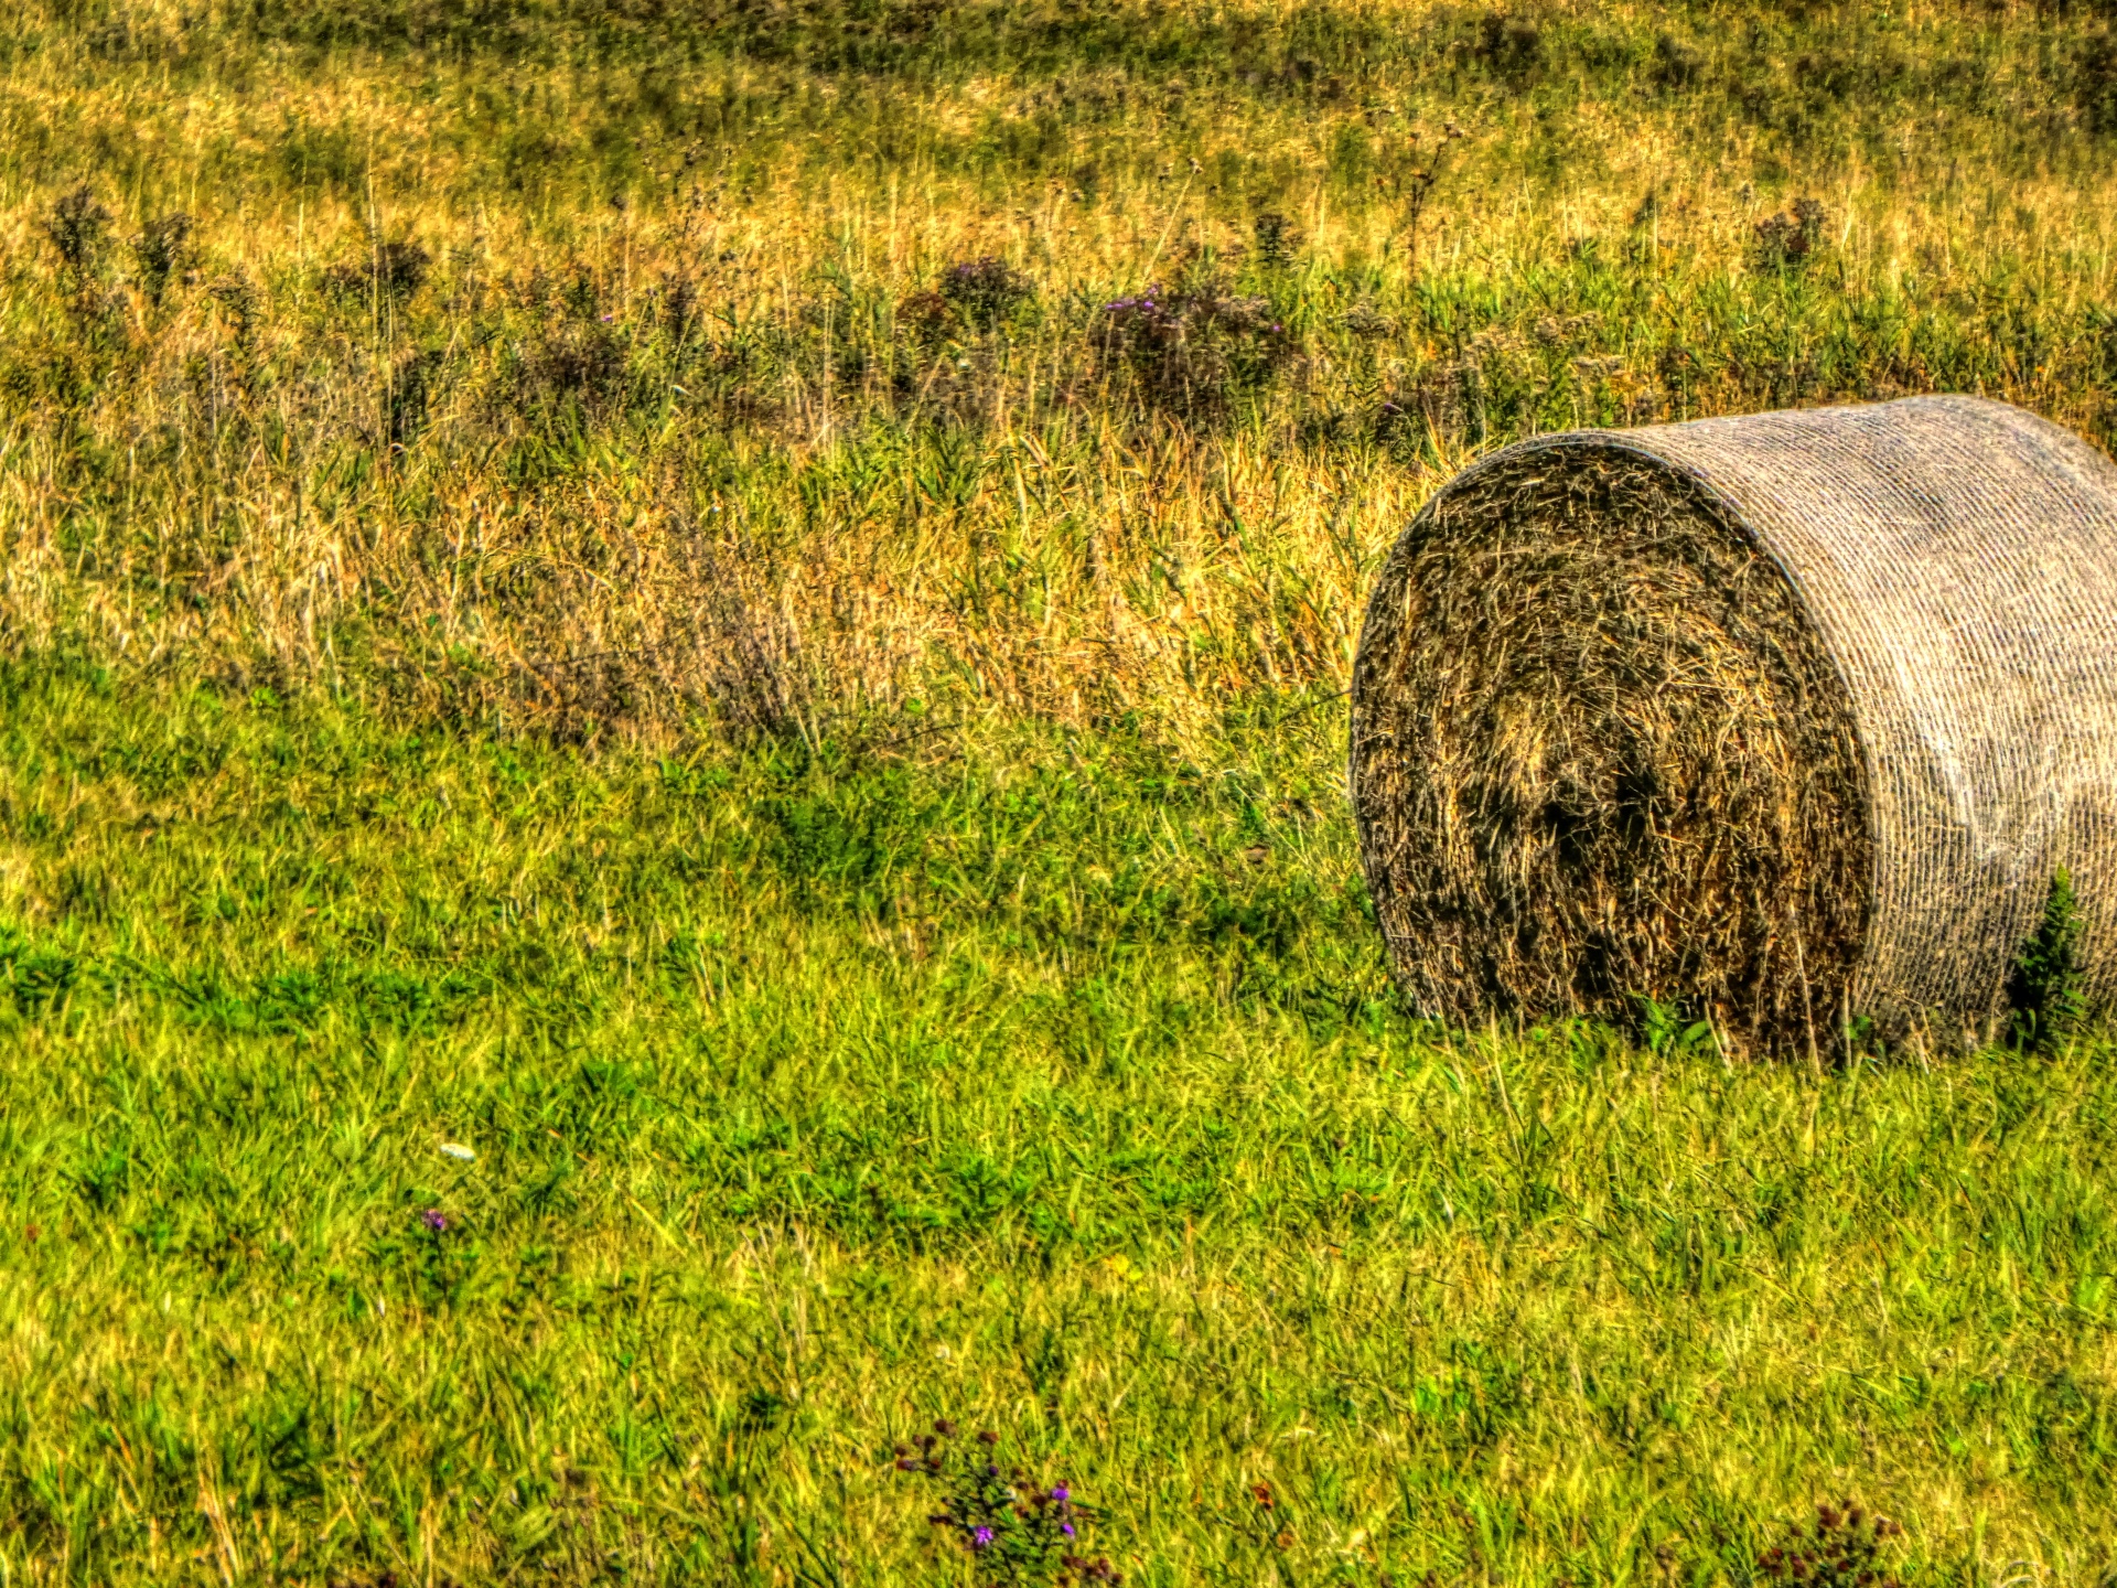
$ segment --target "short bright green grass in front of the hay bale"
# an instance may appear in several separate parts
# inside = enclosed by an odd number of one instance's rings
[[[4,707],[11,1577],[953,1580],[942,1414],[1143,1584],[1749,1582],[1846,1491],[1914,1582],[2117,1558],[2109,1050],[1421,1031],[1325,714]]]

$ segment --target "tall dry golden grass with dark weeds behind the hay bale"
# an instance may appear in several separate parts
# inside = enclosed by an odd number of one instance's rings
[[[2073,13],[68,4],[11,51],[0,631],[133,675],[1207,728],[1340,688],[1376,551],[1520,434],[2117,426]]]

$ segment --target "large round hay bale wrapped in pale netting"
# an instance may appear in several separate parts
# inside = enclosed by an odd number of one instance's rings
[[[2117,980],[2117,468],[1975,398],[1509,447],[1404,531],[1353,809],[1423,1012],[1977,1033],[2058,866]]]

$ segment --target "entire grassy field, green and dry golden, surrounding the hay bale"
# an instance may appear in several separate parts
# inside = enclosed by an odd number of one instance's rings
[[[970,1584],[957,1419],[1133,1584],[2109,1582],[2109,1044],[1421,1027],[1336,694],[1520,434],[2111,445],[2113,155],[2081,4],[19,8],[0,1580]]]

